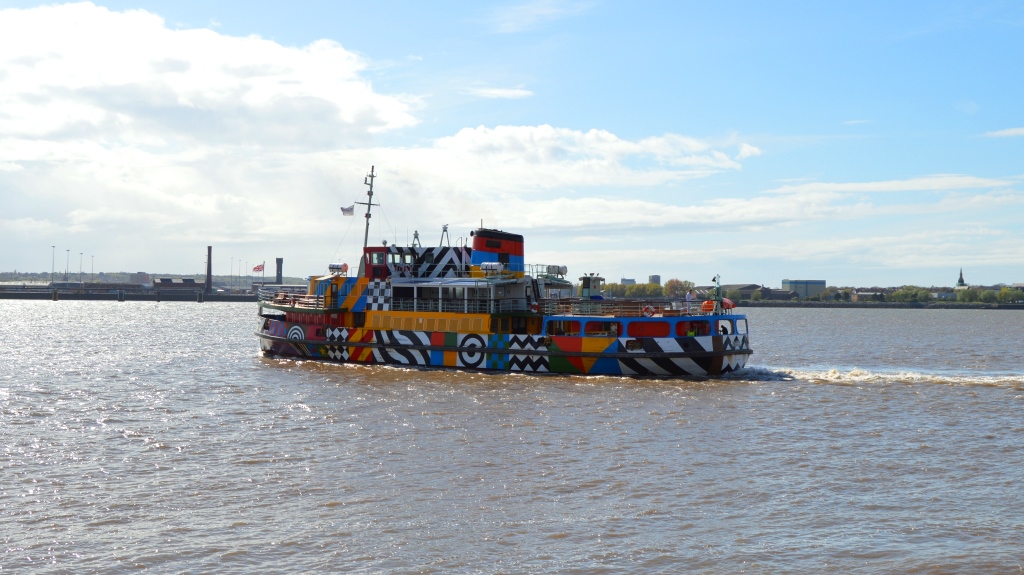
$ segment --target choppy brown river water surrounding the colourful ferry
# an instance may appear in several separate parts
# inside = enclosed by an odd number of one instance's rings
[[[257,354],[0,302],[0,572],[1017,573],[1024,313],[751,309],[724,381]]]

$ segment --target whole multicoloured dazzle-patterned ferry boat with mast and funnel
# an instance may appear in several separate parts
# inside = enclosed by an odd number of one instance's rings
[[[265,355],[338,363],[585,375],[713,377],[752,353],[746,317],[721,296],[692,302],[603,299],[597,274],[527,266],[523,236],[480,227],[451,246],[367,245],[358,270],[332,264],[304,294],[265,290]],[[449,245],[444,238],[449,237]],[[528,273],[527,273],[528,272]]]

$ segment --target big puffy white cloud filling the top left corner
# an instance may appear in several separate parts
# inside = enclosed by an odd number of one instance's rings
[[[90,3],[6,9],[0,132],[110,146],[309,147],[415,125],[415,99],[375,93],[359,77],[365,68],[335,42],[289,48],[254,36],[171,30],[142,10]]]

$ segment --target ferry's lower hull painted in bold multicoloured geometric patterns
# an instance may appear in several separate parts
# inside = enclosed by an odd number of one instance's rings
[[[608,338],[324,327],[266,319],[271,355],[337,363],[532,373],[714,377],[743,367],[745,334]]]

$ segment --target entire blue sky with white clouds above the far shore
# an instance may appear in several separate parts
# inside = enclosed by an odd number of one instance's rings
[[[0,0],[0,270],[1024,281],[1022,3],[432,4]]]

